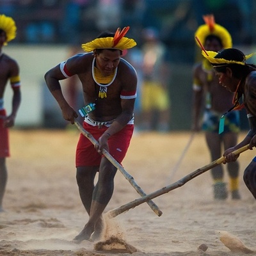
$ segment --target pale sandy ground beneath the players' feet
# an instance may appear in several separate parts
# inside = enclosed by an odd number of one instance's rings
[[[75,127],[67,131],[11,130],[5,212],[0,214],[0,255],[129,255],[125,250],[95,250],[95,243],[90,241],[72,242],[88,220],[75,179],[78,135]],[[179,169],[173,173],[190,136],[189,132],[134,134],[123,166],[145,193],[172,184],[211,163],[204,134],[196,134]],[[108,220],[102,241],[119,237],[134,246],[137,252],[132,255],[136,256],[243,255],[221,243],[218,231],[224,230],[256,250],[256,204],[242,180],[243,170],[253,156],[255,150],[248,150],[239,157],[241,200],[213,200],[208,171],[181,188],[154,198],[163,211],[161,217],[147,204],[141,204]],[[227,173],[225,179],[228,182]],[[139,197],[118,172],[106,211]],[[198,250],[203,243],[208,246],[206,252]]]

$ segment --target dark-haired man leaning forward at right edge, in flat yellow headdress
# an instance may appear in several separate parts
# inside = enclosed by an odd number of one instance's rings
[[[221,86],[229,92],[235,93],[232,109],[245,108],[250,124],[250,131],[243,141],[225,150],[223,163],[236,161],[237,157],[232,152],[248,143],[252,149],[256,146],[256,66],[246,63],[253,54],[245,56],[238,49],[224,49],[220,52],[205,51],[204,57],[212,64],[214,72]],[[241,99],[243,103],[241,104]],[[232,111],[230,109],[230,111]],[[256,157],[246,167],[243,175],[244,183],[256,199]]]

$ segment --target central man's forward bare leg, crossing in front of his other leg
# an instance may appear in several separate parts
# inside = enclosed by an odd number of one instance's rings
[[[115,174],[115,166],[103,157],[100,163],[99,180],[93,189],[90,217],[80,234],[74,238],[77,242],[89,240],[94,231],[99,232],[97,228],[102,222],[102,212],[113,195]]]

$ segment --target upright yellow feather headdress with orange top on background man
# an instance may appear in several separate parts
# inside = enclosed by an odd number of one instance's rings
[[[199,38],[202,44],[205,44],[205,38],[207,36],[214,35],[220,38],[224,49],[231,48],[232,38],[230,36],[230,33],[228,33],[227,29],[223,28],[223,26],[215,23],[214,15],[204,15],[203,19],[205,24],[199,26],[195,33],[195,36]],[[198,44],[197,41],[196,44]],[[198,44],[198,46],[200,45]]]

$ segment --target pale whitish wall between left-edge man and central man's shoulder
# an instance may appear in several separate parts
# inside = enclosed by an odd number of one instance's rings
[[[22,102],[16,119],[16,125],[40,126],[43,122],[43,100],[45,95],[44,74],[51,67],[67,59],[68,47],[7,45],[3,52],[18,61],[20,66],[20,81]],[[49,96],[47,96],[49,97]],[[49,97],[49,104],[51,103]],[[12,104],[12,89],[8,84],[4,93],[4,106],[10,113]]]

